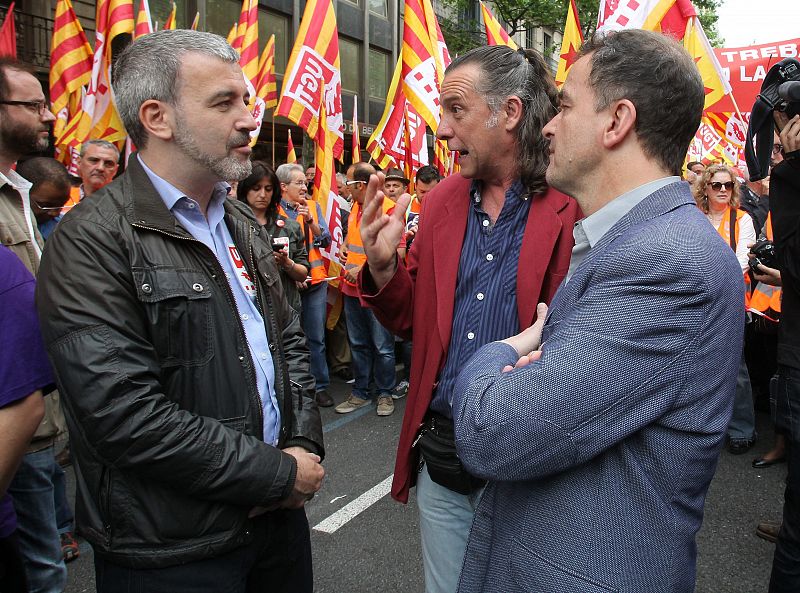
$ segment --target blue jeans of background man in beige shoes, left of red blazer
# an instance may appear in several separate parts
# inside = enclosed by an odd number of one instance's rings
[[[353,357],[353,395],[370,397],[373,374],[378,395],[390,395],[397,384],[394,370],[394,336],[383,327],[375,314],[362,307],[358,297],[344,295],[347,337]]]

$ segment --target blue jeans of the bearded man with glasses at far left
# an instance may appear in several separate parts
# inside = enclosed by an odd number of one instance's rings
[[[67,584],[56,519],[54,483],[59,471],[63,479],[55,447],[28,453],[8,488],[30,593],[61,593]]]

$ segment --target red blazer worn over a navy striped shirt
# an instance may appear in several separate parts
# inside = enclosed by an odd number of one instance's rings
[[[408,501],[408,489],[416,483],[417,453],[411,445],[430,406],[450,344],[470,183],[461,175],[452,175],[426,196],[407,266],[400,264],[383,290],[376,292],[369,264],[359,278],[362,302],[372,307],[389,330],[402,338],[413,336],[414,341],[392,484],[392,496],[400,502]],[[575,200],[556,190],[533,198],[517,271],[520,327],[534,322],[536,304],[550,303],[566,276],[574,242],[572,227],[580,217]]]

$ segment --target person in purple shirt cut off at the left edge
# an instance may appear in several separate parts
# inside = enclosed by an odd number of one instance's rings
[[[0,591],[27,593],[16,515],[8,486],[44,417],[42,390],[53,373],[33,302],[34,280],[8,247],[0,246]]]

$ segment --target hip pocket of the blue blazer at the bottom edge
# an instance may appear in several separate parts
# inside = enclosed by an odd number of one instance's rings
[[[619,592],[616,587],[545,558],[517,539],[511,543],[511,574],[516,584],[528,593]]]

